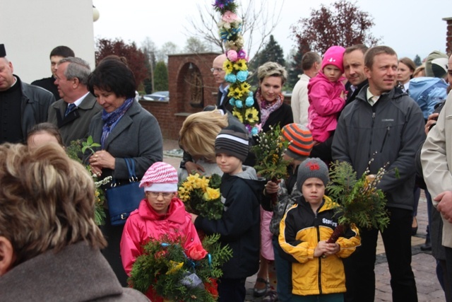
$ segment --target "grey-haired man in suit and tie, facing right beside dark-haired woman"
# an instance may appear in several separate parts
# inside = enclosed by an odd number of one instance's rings
[[[88,91],[90,65],[83,59],[61,59],[55,72],[61,100],[49,108],[49,122],[56,124],[65,146],[76,139],[86,139],[93,116],[102,110]]]

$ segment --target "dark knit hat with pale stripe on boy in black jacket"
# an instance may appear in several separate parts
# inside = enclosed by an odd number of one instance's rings
[[[244,162],[249,152],[248,134],[235,125],[225,127],[215,139],[215,154],[225,153]]]

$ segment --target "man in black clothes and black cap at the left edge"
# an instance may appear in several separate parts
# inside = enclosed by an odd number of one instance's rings
[[[0,44],[0,144],[26,141],[31,127],[47,122],[49,105],[55,101],[52,93],[20,81],[13,71]]]

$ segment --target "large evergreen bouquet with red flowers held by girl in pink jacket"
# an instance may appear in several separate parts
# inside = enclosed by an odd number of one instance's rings
[[[220,235],[206,236],[202,246],[182,248],[182,238],[151,239],[143,255],[136,258],[129,283],[148,296],[167,301],[217,301],[216,279],[221,266],[232,257],[229,245],[221,246]],[[154,297],[156,298],[156,297]]]

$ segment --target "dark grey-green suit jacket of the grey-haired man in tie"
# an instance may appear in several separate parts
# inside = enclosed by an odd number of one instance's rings
[[[90,122],[93,116],[102,110],[102,106],[97,104],[94,95],[88,93],[78,108],[65,117],[66,108],[68,108],[68,103],[62,98],[53,103],[49,107],[48,122],[58,126],[64,146],[70,146],[71,141],[83,140],[88,137]]]

